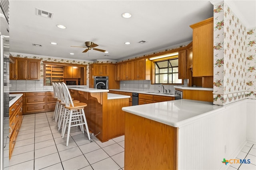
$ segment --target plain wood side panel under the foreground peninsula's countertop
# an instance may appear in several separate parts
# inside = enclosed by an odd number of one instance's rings
[[[178,128],[125,112],[124,169],[178,170]]]

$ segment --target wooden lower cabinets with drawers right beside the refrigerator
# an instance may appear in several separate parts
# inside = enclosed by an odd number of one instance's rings
[[[9,159],[12,156],[12,152],[16,143],[16,138],[20,130],[22,123],[22,102],[23,99],[20,97],[10,108],[9,108]]]

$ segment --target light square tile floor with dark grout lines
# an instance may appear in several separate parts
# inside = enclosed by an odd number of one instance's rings
[[[72,127],[66,147],[66,137],[61,138],[52,117],[53,112],[24,115],[9,167],[4,170],[124,169],[124,136],[90,142],[79,128]],[[256,145],[246,143],[236,158],[250,159],[251,163],[230,164],[228,170],[256,170]]]

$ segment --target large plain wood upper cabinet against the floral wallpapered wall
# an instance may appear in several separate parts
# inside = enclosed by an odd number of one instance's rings
[[[193,76],[213,76],[213,17],[190,27],[193,29]]]

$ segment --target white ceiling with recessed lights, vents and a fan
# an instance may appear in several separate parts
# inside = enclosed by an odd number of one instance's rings
[[[122,60],[191,41],[189,25],[213,16],[213,5],[208,0],[9,1],[10,52],[74,60]],[[232,5],[240,7],[239,15],[248,23],[256,25],[255,15],[252,16],[255,0],[242,2],[234,1]],[[241,8],[243,6],[247,8]],[[53,18],[37,16],[36,8],[52,12]],[[130,12],[132,17],[122,18],[123,12]],[[59,29],[57,24],[67,28]],[[147,43],[138,43],[142,40]],[[109,53],[94,50],[82,53],[85,48],[70,47],[85,46],[85,41],[92,41],[99,45],[96,48]],[[131,44],[125,45],[126,41]]]

